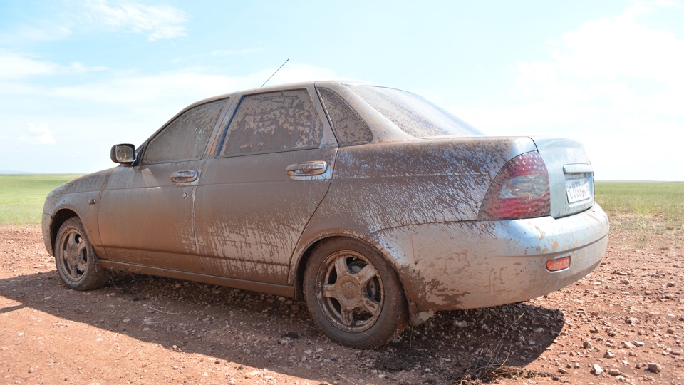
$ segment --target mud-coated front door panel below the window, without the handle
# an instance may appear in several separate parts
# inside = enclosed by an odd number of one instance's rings
[[[195,190],[204,160],[116,168],[102,192],[100,234],[118,262],[202,272],[195,244]],[[196,170],[174,183],[172,173]]]

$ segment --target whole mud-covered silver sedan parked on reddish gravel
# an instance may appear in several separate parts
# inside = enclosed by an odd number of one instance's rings
[[[208,98],[110,156],[118,167],[45,202],[67,287],[125,270],[301,298],[352,347],[436,311],[553,292],[594,270],[608,242],[581,143],[486,136],[393,88]]]

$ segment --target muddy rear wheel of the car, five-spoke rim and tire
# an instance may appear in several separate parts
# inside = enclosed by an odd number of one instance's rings
[[[331,340],[357,349],[386,344],[408,320],[396,272],[375,248],[357,240],[316,246],[306,263],[304,299]]]

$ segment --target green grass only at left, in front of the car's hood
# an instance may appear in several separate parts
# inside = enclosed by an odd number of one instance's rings
[[[0,175],[0,225],[36,225],[43,202],[53,188],[78,178],[75,174]]]

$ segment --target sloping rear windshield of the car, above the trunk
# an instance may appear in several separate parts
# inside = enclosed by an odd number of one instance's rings
[[[484,135],[415,93],[378,86],[354,86],[351,89],[405,133],[417,138]]]

